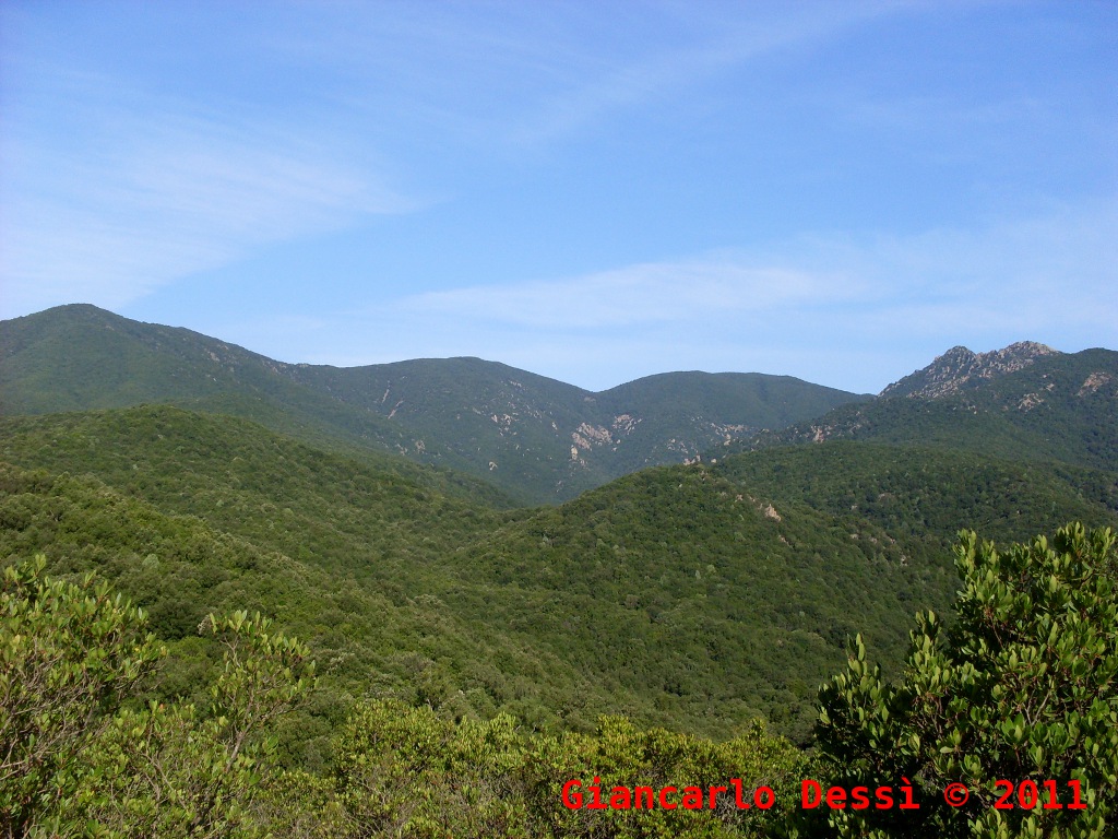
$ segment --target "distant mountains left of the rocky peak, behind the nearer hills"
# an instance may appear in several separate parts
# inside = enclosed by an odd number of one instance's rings
[[[759,374],[678,373],[601,394],[481,359],[287,365],[70,305],[0,323],[0,413],[173,404],[319,446],[389,451],[555,502],[645,465],[863,397]]]

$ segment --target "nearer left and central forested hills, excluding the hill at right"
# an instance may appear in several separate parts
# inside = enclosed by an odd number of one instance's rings
[[[9,418],[0,439],[19,464],[0,480],[0,555],[97,567],[188,648],[206,612],[262,609],[333,662],[338,697],[709,734],[766,715],[803,737],[845,634],[896,659],[907,626],[912,568],[874,571],[832,517],[788,506],[777,521],[703,468],[499,513],[167,406]]]

